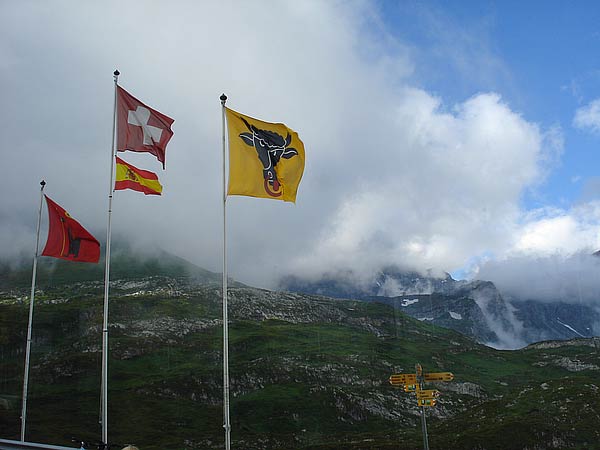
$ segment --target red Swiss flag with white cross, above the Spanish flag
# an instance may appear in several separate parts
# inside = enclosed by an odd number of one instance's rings
[[[152,153],[165,168],[165,150],[175,120],[117,86],[117,150]]]

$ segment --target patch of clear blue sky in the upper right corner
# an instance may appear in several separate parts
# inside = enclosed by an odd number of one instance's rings
[[[600,97],[597,2],[383,1],[380,7],[394,35],[416,46],[422,64],[414,78],[426,89],[450,103],[499,92],[528,120],[560,127],[564,152],[547,180],[524,193],[525,207],[581,200],[598,175],[600,155],[599,136],[572,125],[575,111]],[[464,59],[449,57],[454,50]]]

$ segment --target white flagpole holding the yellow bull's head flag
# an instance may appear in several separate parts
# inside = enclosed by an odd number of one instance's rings
[[[222,94],[221,112],[223,124],[223,418],[225,428],[225,450],[231,449],[231,424],[229,423],[229,321],[227,317],[227,186],[225,184],[225,102]]]

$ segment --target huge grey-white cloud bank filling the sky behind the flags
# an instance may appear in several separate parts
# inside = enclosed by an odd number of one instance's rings
[[[175,119],[175,135],[164,172],[149,155],[120,155],[165,189],[117,192],[113,233],[207,269],[221,269],[223,92],[306,147],[296,205],[227,201],[229,272],[241,281],[390,264],[441,273],[591,239],[582,216],[559,223],[521,206],[560,155],[560,129],[497,92],[451,104],[428,92],[415,77],[426,55],[415,58],[380,15],[363,1],[2,3],[0,256],[33,252],[41,178],[104,236],[115,68],[125,89]],[[561,239],[572,230],[583,234]]]

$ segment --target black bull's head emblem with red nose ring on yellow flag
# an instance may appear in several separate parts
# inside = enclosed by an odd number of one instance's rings
[[[241,118],[241,117],[240,117]],[[240,138],[249,146],[256,149],[258,159],[263,165],[263,178],[265,191],[272,197],[279,197],[283,193],[281,183],[277,179],[275,171],[280,158],[290,159],[298,154],[295,148],[289,147],[292,136],[288,132],[284,139],[273,131],[259,130],[246,120],[242,121],[250,130],[250,133],[240,134]]]

